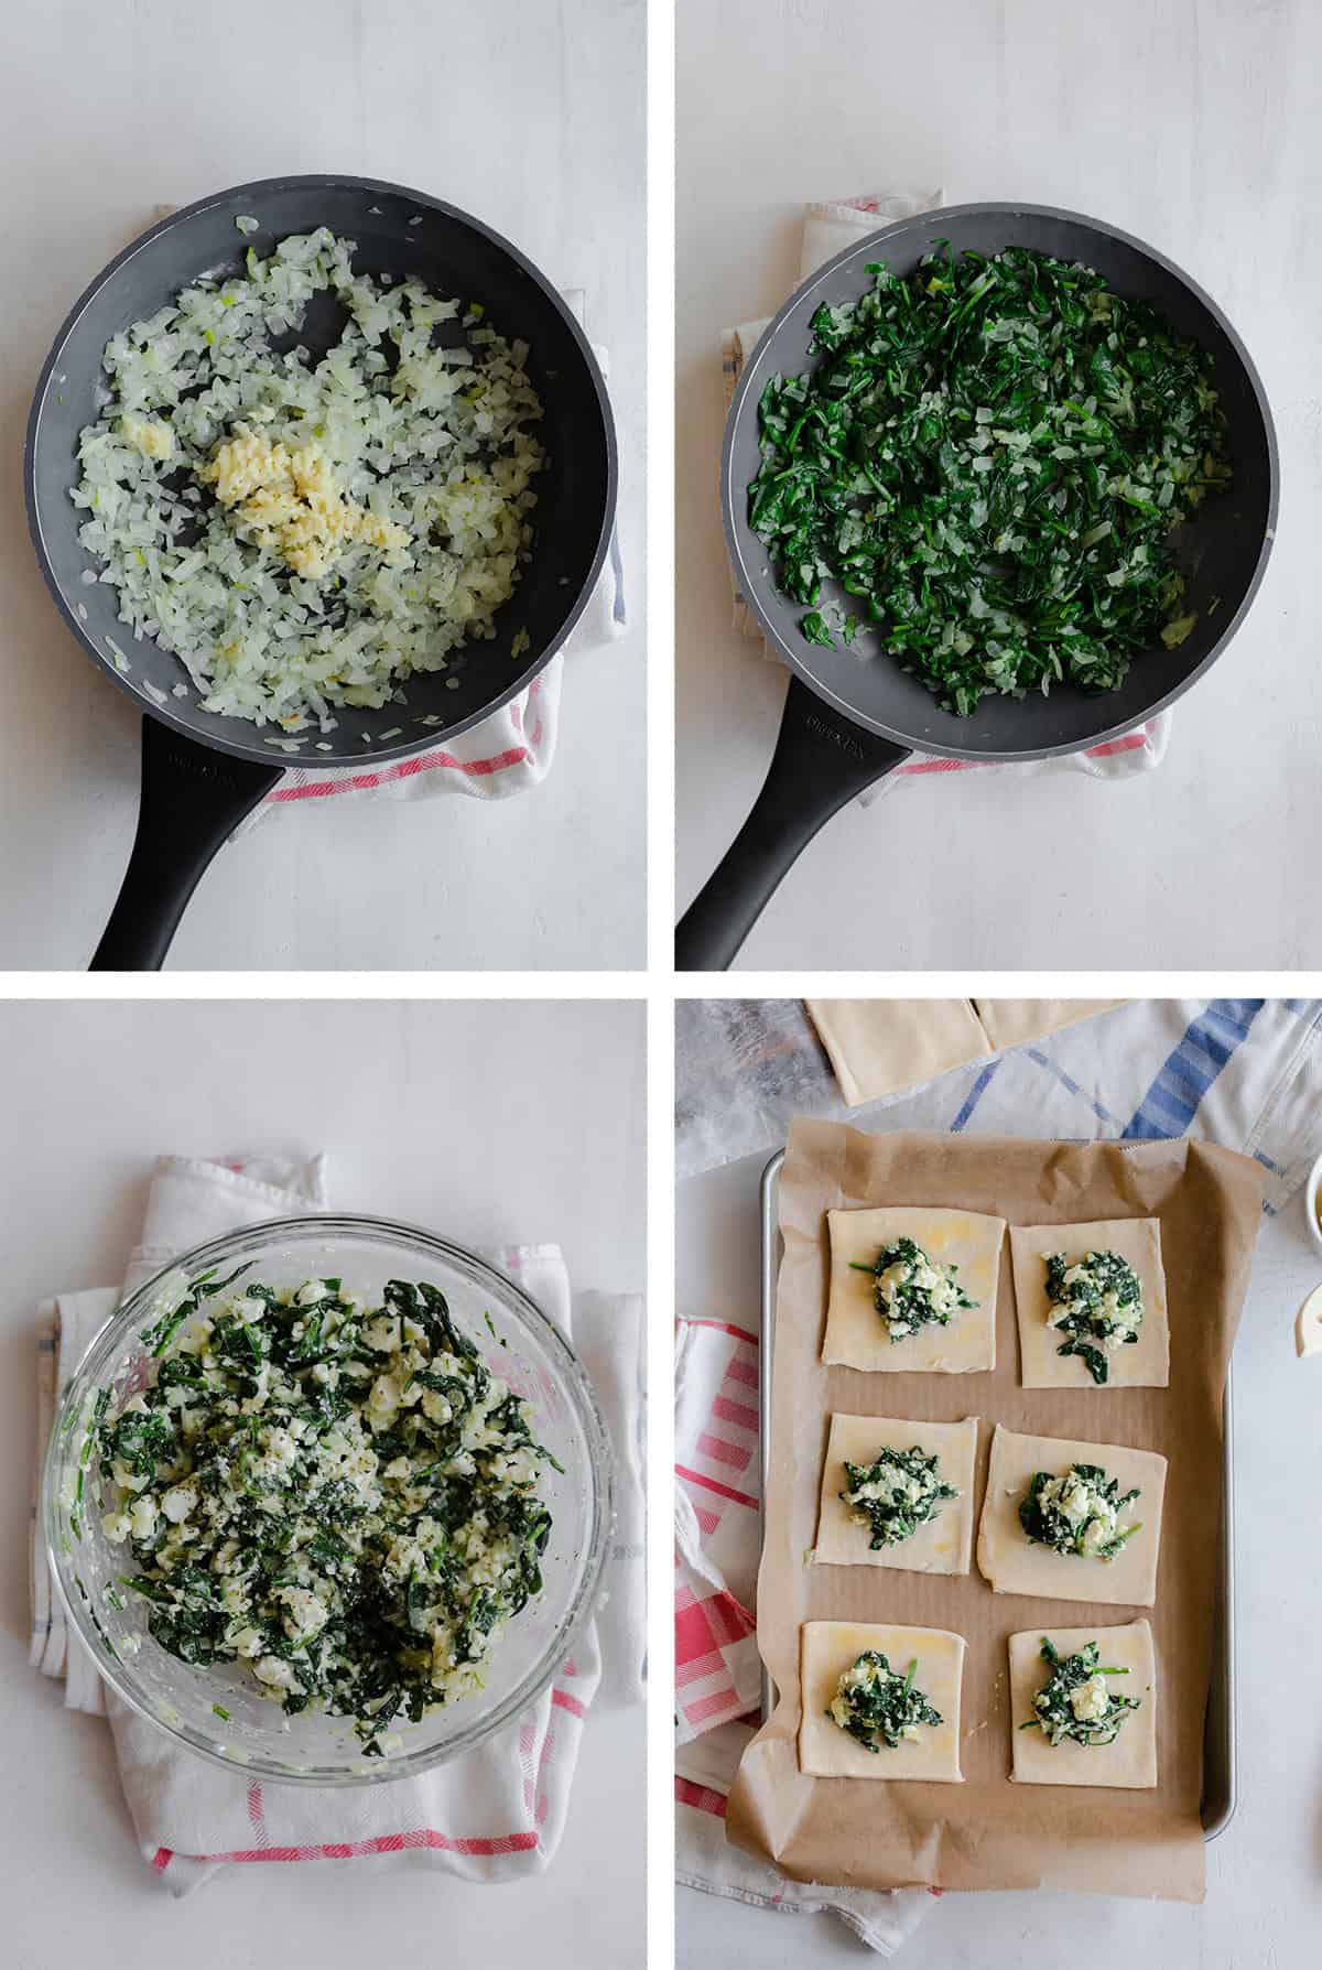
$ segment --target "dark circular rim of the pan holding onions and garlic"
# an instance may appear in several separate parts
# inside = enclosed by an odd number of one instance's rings
[[[431,725],[426,731],[422,731],[420,737],[416,739],[390,741],[386,745],[374,745],[370,749],[345,753],[345,756],[305,755],[301,751],[286,753],[278,745],[266,745],[268,737],[266,731],[254,725],[250,719],[232,717],[229,723],[240,727],[242,733],[252,737],[236,735],[234,739],[231,739],[227,733],[199,731],[197,725],[179,717],[179,713],[171,709],[169,701],[158,705],[152,697],[138,691],[132,680],[126,678],[122,672],[118,672],[110,662],[110,658],[102,654],[102,650],[97,646],[87,626],[79,621],[77,613],[63,595],[59,579],[55,577],[51,556],[45,546],[41,510],[37,500],[37,485],[35,485],[35,459],[37,459],[41,416],[47,404],[51,378],[55,376],[61,351],[67,347],[69,337],[73,335],[75,327],[79,325],[87,309],[114,280],[120,268],[126,266],[138,252],[150,246],[164,232],[169,232],[175,227],[183,227],[187,225],[187,221],[195,219],[201,213],[213,211],[219,205],[232,203],[234,199],[240,197],[270,195],[276,191],[305,191],[305,189],[329,189],[329,187],[349,187],[353,191],[384,193],[390,197],[412,201],[418,205],[418,209],[441,213],[445,219],[459,221],[473,232],[479,232],[485,240],[489,240],[489,244],[496,246],[496,250],[502,252],[508,260],[512,260],[534,282],[534,286],[540,288],[540,292],[550,299],[552,307],[556,309],[556,313],[569,331],[569,337],[579,353],[579,359],[587,370],[587,378],[593,388],[597,414],[601,418],[601,441],[605,451],[605,500],[603,500],[601,528],[593,548],[589,571],[573,603],[565,611],[563,623],[556,630],[552,642],[548,642],[546,648],[540,650],[530,664],[518,670],[512,684],[508,684],[508,690],[502,688],[479,711],[471,711],[465,717],[455,719],[453,725],[451,723]],[[181,205],[177,211],[167,213],[165,219],[160,219],[154,227],[148,227],[136,238],[128,240],[128,244],[112,260],[108,260],[106,266],[102,266],[100,272],[89,282],[89,286],[77,297],[77,301],[65,315],[63,323],[55,331],[49,355],[45,357],[45,362],[41,364],[41,372],[37,376],[32,408],[28,412],[28,426],[24,431],[24,504],[28,508],[28,534],[32,538],[32,546],[37,558],[37,567],[41,569],[41,579],[45,581],[45,587],[49,589],[59,615],[73,630],[87,656],[93,660],[93,666],[100,672],[102,678],[114,684],[124,697],[130,699],[134,709],[138,709],[144,717],[158,719],[162,725],[167,725],[183,739],[189,739],[195,745],[207,747],[209,751],[215,753],[227,753],[231,758],[244,758],[250,762],[260,762],[264,766],[280,766],[284,770],[303,766],[315,772],[343,772],[347,768],[353,768],[355,772],[372,772],[380,764],[412,758],[418,753],[428,753],[449,739],[461,737],[475,725],[481,725],[485,719],[493,717],[504,705],[508,705],[512,697],[518,697],[522,690],[526,690],[536,678],[540,678],[540,674],[552,662],[556,652],[563,648],[565,640],[569,638],[579,619],[583,617],[583,611],[591,601],[593,589],[597,587],[597,579],[601,575],[601,569],[605,567],[605,559],[611,548],[617,500],[619,500],[619,437],[615,431],[615,416],[611,410],[611,398],[605,386],[605,376],[601,372],[601,364],[593,355],[593,347],[581,323],[575,321],[573,311],[567,307],[563,296],[554,286],[554,282],[550,282],[548,276],[536,266],[536,262],[530,260],[528,254],[524,254],[518,246],[514,246],[512,240],[508,240],[502,232],[496,232],[496,229],[489,227],[483,219],[477,219],[473,213],[467,213],[463,207],[451,205],[445,199],[437,199],[428,191],[416,191],[412,185],[396,185],[392,179],[384,177],[361,177],[355,171],[288,171],[276,177],[256,177],[240,185],[229,185],[221,191],[211,191],[201,199],[193,199],[191,205]],[[341,727],[343,723],[345,721],[341,719]]]

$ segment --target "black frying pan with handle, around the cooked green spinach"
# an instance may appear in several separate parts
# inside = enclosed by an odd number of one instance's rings
[[[1028,246],[1080,260],[1117,294],[1151,301],[1216,361],[1229,420],[1233,485],[1184,524],[1172,542],[1198,624],[1176,650],[1137,656],[1125,684],[1105,697],[1052,686],[1050,697],[985,697],[969,717],[942,711],[928,690],[885,654],[827,650],[800,636],[802,609],[774,585],[762,542],[749,526],[749,481],[759,453],[757,406],[768,376],[800,374],[810,357],[810,317],[824,301],[857,301],[871,286],[869,260],[908,274],[938,240],[981,254]],[[735,579],[770,646],[790,666],[776,753],[749,820],[725,861],[680,922],[676,963],[707,971],[731,963],[762,906],[824,821],[910,753],[946,758],[1050,758],[1133,731],[1174,703],[1220,656],[1263,579],[1277,522],[1277,437],[1249,353],[1216,301],[1153,246],[1115,227],[1052,205],[950,205],[873,232],[829,260],[770,323],[739,380],[721,457],[721,504]],[[827,585],[827,593],[833,585]],[[1214,595],[1222,597],[1208,615]],[[804,953],[808,955],[808,953]],[[894,961],[896,953],[891,953]]]

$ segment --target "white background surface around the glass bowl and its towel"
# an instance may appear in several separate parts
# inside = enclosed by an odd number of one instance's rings
[[[642,1964],[642,1708],[589,1714],[560,1854],[475,1887],[390,1862],[248,1866],[175,1901],[100,1718],[28,1667],[37,1302],[110,1284],[158,1154],[331,1156],[331,1202],[461,1245],[558,1241],[644,1288],[644,1009],[603,1003],[0,1005],[0,1954],[14,1970]]]

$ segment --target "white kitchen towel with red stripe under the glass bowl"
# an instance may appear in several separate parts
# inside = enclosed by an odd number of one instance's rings
[[[181,1249],[266,1217],[325,1208],[325,1162],[238,1156],[229,1162],[162,1158],[152,1182],[142,1245],[124,1294]],[[496,1740],[418,1779],[359,1791],[313,1791],[248,1783],[183,1751],[158,1726],[120,1704],[63,1623],[45,1554],[33,1537],[32,1659],[65,1674],[69,1708],[110,1720],[120,1779],[150,1866],[179,1895],[219,1866],[240,1862],[357,1860],[404,1856],[473,1881],[540,1873],[563,1832],[583,1718],[603,1682],[617,1700],[640,1696],[644,1665],[642,1464],[638,1407],[642,1308],[634,1296],[583,1294],[571,1306],[569,1277],[556,1245],[512,1245],[491,1255],[565,1332],[575,1332],[617,1456],[617,1544],[607,1564],[609,1600],[554,1688]],[[124,1294],[63,1294],[37,1326],[43,1446],[67,1375]]]

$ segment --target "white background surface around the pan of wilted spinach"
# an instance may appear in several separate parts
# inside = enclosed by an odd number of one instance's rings
[[[1259,599],[1178,703],[1157,772],[940,774],[855,804],[749,938],[751,969],[1304,961],[1322,833],[1320,79],[1312,0],[678,0],[680,904],[753,804],[784,695],[729,626],[719,335],[794,288],[804,201],[942,185],[948,203],[1028,199],[1137,232],[1243,335],[1283,463]]]

